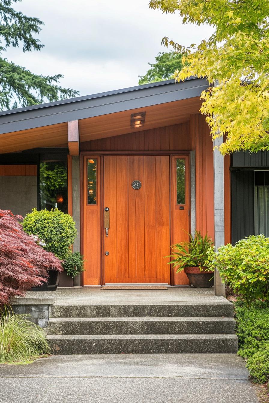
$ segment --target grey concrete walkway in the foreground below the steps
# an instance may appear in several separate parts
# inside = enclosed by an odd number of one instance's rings
[[[0,365],[1,403],[258,403],[236,354],[57,355]]]

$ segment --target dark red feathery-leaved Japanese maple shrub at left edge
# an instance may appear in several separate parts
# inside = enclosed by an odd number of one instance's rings
[[[37,245],[19,220],[23,217],[0,210],[0,304],[47,282],[48,270],[63,270],[61,261]]]

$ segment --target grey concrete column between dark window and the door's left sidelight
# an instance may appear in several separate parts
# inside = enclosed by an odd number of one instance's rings
[[[79,156],[72,156],[72,216],[76,223],[77,238],[73,251],[80,252],[80,197],[79,197]],[[74,285],[80,285],[80,274],[74,278]]]

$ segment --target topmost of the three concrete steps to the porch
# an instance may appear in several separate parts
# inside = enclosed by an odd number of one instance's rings
[[[52,305],[50,318],[233,317],[229,301],[177,305]]]

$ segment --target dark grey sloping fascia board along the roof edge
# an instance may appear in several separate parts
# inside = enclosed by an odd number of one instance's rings
[[[0,112],[0,134],[193,98],[208,87],[206,79],[191,77],[7,110]]]

